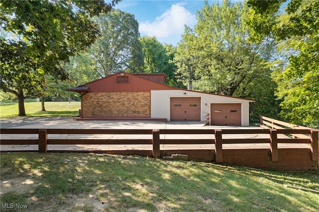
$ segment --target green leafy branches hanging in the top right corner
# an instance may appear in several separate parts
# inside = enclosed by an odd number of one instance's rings
[[[283,13],[280,8],[285,1],[248,0],[251,15],[246,23],[253,29],[251,39],[272,35],[285,40],[293,36],[318,34],[319,1],[292,0]]]

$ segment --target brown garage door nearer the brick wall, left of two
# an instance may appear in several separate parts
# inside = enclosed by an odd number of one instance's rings
[[[200,121],[200,98],[170,98],[170,120]]]

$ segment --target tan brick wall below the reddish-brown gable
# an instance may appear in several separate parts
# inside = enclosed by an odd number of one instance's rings
[[[150,92],[87,93],[82,96],[82,115],[151,117]]]

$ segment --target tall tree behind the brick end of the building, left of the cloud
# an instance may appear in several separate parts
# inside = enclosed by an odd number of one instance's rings
[[[87,51],[72,57],[64,65],[73,82],[70,87],[120,71],[141,72],[143,52],[139,23],[134,15],[117,9],[94,17],[93,21],[101,36]]]

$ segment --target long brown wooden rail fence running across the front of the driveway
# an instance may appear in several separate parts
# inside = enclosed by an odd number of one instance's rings
[[[311,160],[319,159],[318,130],[316,129],[0,129],[3,134],[37,134],[38,139],[1,139],[1,145],[38,145],[39,152],[47,152],[47,145],[77,144],[149,144],[153,145],[153,157],[160,157],[160,144],[214,144],[215,162],[223,163],[223,144],[258,144],[269,143],[271,160],[278,161],[279,143],[310,144]],[[114,135],[153,135],[152,139],[48,139],[50,134],[114,134]],[[206,134],[207,139],[160,139],[160,134]],[[224,135],[258,134],[269,135],[267,138],[226,138]],[[278,134],[293,134],[293,138],[278,138]],[[300,136],[303,135],[303,136]],[[307,137],[307,138],[306,138]],[[240,149],[240,147],[238,147]],[[139,150],[126,151],[127,154],[139,154]],[[124,151],[125,152],[125,151]],[[136,152],[136,153],[135,153]],[[114,154],[124,154],[114,151]]]

